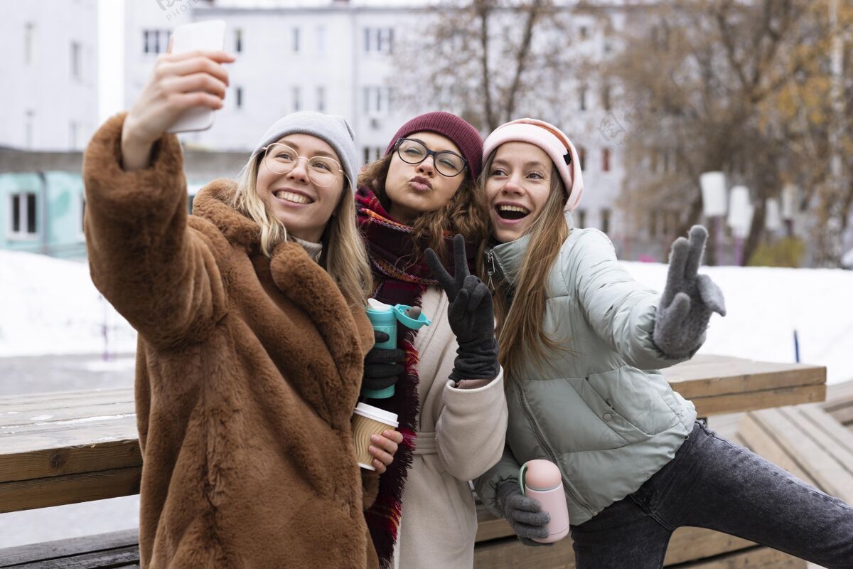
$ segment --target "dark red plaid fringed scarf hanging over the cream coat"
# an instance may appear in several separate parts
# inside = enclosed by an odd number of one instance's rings
[[[421,306],[421,295],[427,286],[438,284],[432,278],[432,272],[422,257],[427,245],[422,245],[421,255],[415,258],[412,228],[390,218],[371,189],[358,189],[356,206],[358,228],[367,245],[370,268],[374,275],[373,298],[388,305]],[[444,237],[447,239],[447,250],[452,252],[453,235]],[[469,263],[472,263],[474,248],[468,246],[467,249]],[[446,257],[450,258],[452,264],[452,253]],[[451,266],[451,274],[452,271]],[[438,314],[427,316],[433,321],[440,317]],[[403,433],[403,444],[397,449],[394,462],[380,477],[376,502],[364,513],[376,553],[379,555],[380,567],[383,569],[391,566],[400,525],[403,487],[415,450],[415,432],[420,410],[415,334],[415,330],[403,326],[397,328],[397,347],[406,353],[405,374],[397,381],[393,397],[369,400],[371,405],[396,413],[400,423],[398,430]]]

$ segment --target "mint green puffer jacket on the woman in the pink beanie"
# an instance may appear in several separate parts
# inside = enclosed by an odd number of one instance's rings
[[[571,214],[566,223],[572,228]],[[490,250],[488,263],[514,282],[529,236]],[[670,462],[696,409],[658,369],[681,360],[652,341],[659,293],[622,269],[597,229],[572,229],[548,274],[544,328],[565,351],[505,380],[509,422],[500,462],[475,481],[496,515],[497,486],[518,484],[519,465],[560,467],[572,525],[636,491]]]

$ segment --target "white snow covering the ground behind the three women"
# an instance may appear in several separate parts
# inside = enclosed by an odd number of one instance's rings
[[[639,282],[662,290],[665,264],[624,263]],[[703,267],[726,297],[699,353],[827,366],[828,380],[853,379],[853,271]],[[87,264],[0,251],[0,357],[128,353],[136,333],[104,301]]]

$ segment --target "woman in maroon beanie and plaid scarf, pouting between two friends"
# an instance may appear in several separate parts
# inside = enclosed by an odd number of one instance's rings
[[[365,514],[382,566],[473,566],[477,516],[467,481],[502,456],[507,402],[491,298],[469,274],[486,235],[474,194],[482,153],[465,120],[421,114],[358,180],[373,297],[421,306],[432,320],[416,332],[399,328],[404,371],[395,394],[368,400],[399,415],[405,438]],[[430,263],[428,248],[447,272]],[[382,380],[368,375],[365,384]]]

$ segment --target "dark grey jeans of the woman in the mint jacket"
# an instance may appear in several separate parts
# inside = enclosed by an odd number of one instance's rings
[[[572,527],[577,569],[659,569],[682,525],[853,569],[853,508],[701,422],[638,491]]]

